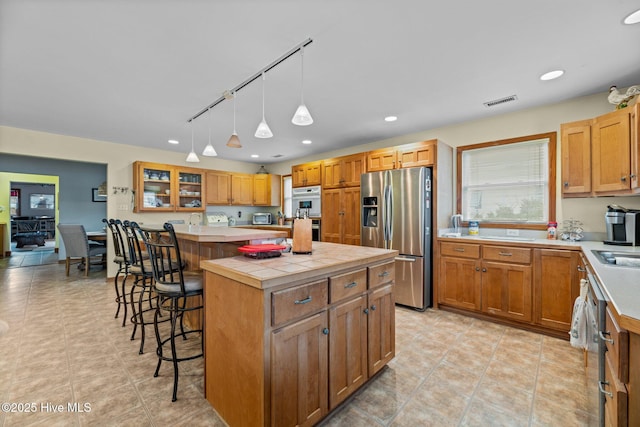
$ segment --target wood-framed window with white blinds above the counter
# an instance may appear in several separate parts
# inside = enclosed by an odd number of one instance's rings
[[[458,147],[464,221],[545,228],[555,219],[555,151],[555,133]]]

